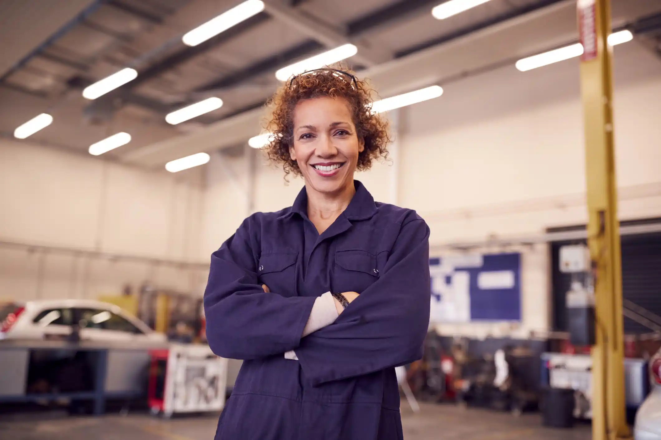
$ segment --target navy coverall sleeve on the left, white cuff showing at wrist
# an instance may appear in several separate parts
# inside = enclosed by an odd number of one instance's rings
[[[299,345],[314,297],[264,293],[256,274],[258,225],[248,218],[212,254],[204,292],[206,336],[223,358],[257,359]]]

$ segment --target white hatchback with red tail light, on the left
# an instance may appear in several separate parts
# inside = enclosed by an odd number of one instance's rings
[[[167,342],[117,305],[86,299],[0,304],[0,323],[0,340],[63,340],[77,323],[81,340]]]

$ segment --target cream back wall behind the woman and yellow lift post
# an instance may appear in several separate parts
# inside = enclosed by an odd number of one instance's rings
[[[440,245],[491,236],[540,234],[552,226],[584,224],[585,160],[578,61],[521,73],[514,65],[444,84],[441,98],[401,112],[398,204],[414,208]],[[661,60],[637,42],[615,48],[615,142],[619,215],[661,216]],[[390,164],[360,173],[379,201],[391,201]],[[258,167],[256,210],[290,206],[300,179],[285,186],[282,172]],[[208,224],[214,248],[244,214],[219,218],[214,203],[231,193],[210,182]],[[213,194],[213,195],[212,195]],[[222,194],[222,195],[221,195]],[[206,235],[203,234],[203,237]],[[204,238],[203,238],[204,240]],[[522,323],[443,325],[452,334],[514,334],[549,329],[547,245],[482,249],[521,251]]]

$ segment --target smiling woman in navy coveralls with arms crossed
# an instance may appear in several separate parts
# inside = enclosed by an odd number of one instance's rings
[[[371,103],[364,81],[329,68],[270,103],[266,152],[305,187],[212,255],[207,338],[244,360],[217,440],[403,438],[394,367],[422,356],[429,228],[354,180],[389,141]]]

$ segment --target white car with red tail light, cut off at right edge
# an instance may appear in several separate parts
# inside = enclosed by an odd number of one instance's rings
[[[650,373],[652,391],[636,413],[635,440],[661,440],[661,350],[650,359]]]

